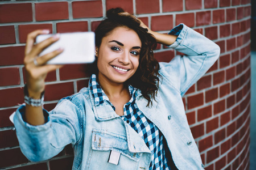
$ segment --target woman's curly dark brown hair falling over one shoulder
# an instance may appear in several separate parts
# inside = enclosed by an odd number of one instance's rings
[[[106,12],[106,19],[98,25],[95,31],[95,44],[99,48],[101,41],[105,36],[110,35],[117,27],[127,27],[133,29],[141,39],[142,47],[139,54],[139,66],[137,71],[125,83],[141,90],[145,99],[148,100],[147,107],[152,105],[152,100],[158,92],[159,85],[159,63],[154,57],[153,50],[156,48],[156,39],[146,28],[139,25],[138,19],[130,14],[123,14],[125,12],[122,8],[112,8]],[[98,74],[97,59],[94,64],[96,70],[94,73]]]

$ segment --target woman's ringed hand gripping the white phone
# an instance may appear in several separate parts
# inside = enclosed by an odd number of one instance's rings
[[[27,43],[25,48],[24,66],[26,72],[26,80],[28,87],[28,94],[34,99],[40,99],[41,93],[44,91],[47,73],[60,68],[62,65],[46,65],[46,62],[53,57],[56,57],[63,49],[57,49],[44,56],[38,57],[39,54],[47,48],[47,46],[53,44],[59,40],[59,35],[49,37],[48,39],[38,43],[35,43],[36,36],[40,34],[48,34],[48,30],[36,30],[28,34]],[[36,60],[36,61],[34,61]]]

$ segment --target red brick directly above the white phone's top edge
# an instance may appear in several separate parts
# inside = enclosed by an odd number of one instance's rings
[[[87,22],[65,22],[65,23],[57,23],[57,32],[85,32],[88,31],[88,23]]]

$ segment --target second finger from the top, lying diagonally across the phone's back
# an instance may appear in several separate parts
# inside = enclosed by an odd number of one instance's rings
[[[34,58],[35,56],[39,56],[39,54],[45,49],[47,48],[49,45],[53,44],[54,42],[56,42],[57,40],[60,39],[60,35],[59,33],[57,33],[56,35],[49,37],[48,39],[39,42],[38,44],[36,44],[34,46],[34,48],[32,48],[31,52],[30,52],[30,56],[31,58]]]

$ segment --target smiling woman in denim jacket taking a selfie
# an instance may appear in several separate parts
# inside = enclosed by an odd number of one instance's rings
[[[42,109],[44,79],[61,66],[45,63],[62,49],[36,56],[58,40],[38,45],[28,35],[24,59],[26,105],[14,116],[20,149],[32,161],[47,160],[69,143],[73,169],[203,169],[185,116],[182,96],[213,65],[220,48],[184,24],[168,35],[151,31],[115,8],[96,29],[96,65],[89,87]],[[186,56],[158,63],[156,41]]]

